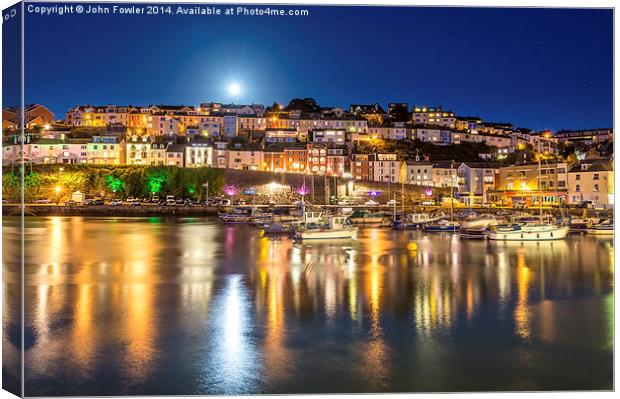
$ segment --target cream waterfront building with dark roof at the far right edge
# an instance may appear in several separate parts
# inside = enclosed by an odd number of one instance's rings
[[[584,160],[568,171],[567,203],[591,201],[596,208],[614,205],[614,171],[606,159]]]

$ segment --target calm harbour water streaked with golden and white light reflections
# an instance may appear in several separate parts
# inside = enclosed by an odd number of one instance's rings
[[[295,243],[216,218],[29,217],[25,246],[27,395],[612,388],[610,238]]]

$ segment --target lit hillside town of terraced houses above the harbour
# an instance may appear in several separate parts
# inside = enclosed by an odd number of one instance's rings
[[[466,206],[614,204],[613,129],[533,131],[390,103],[4,109],[3,165],[166,165],[451,188]],[[21,138],[20,138],[21,137]],[[542,165],[539,170],[539,161]]]

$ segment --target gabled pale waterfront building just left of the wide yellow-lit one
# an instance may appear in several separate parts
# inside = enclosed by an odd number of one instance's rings
[[[467,206],[488,203],[495,189],[499,166],[490,162],[463,162],[457,168],[458,195]]]

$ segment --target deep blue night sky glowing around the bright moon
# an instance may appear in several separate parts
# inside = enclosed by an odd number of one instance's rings
[[[611,10],[300,8],[310,16],[27,15],[26,101],[61,118],[86,103],[314,97],[537,130],[612,126]]]

